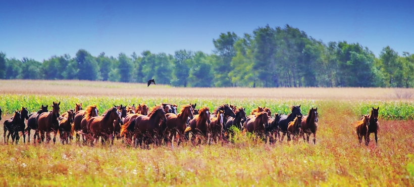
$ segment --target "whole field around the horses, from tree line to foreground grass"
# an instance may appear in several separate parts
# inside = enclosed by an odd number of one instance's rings
[[[0,81],[3,121],[22,105],[30,111],[61,101],[148,105],[161,102],[217,107],[257,105],[287,113],[318,107],[317,144],[265,145],[237,135],[234,144],[153,147],[41,144],[0,145],[0,183],[41,186],[412,186],[414,128],[412,89],[388,88],[174,88],[163,85],[88,81]],[[379,145],[358,145],[353,122],[380,107]],[[198,107],[197,107],[198,108]],[[398,120],[397,120],[398,119]],[[3,123],[1,121],[1,123]],[[0,127],[1,128],[1,127]],[[0,129],[1,130],[1,129]],[[373,136],[371,136],[373,137]],[[375,142],[375,141],[374,141]]]

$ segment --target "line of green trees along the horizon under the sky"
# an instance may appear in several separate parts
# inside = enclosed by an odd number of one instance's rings
[[[376,57],[359,43],[324,43],[298,28],[258,27],[238,36],[221,33],[212,54],[144,51],[117,57],[52,56],[43,62],[0,53],[0,79],[79,79],[184,87],[413,87],[414,54],[386,46]]]

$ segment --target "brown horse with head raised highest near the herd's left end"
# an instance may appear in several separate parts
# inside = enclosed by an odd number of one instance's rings
[[[50,141],[50,132],[53,132],[53,143],[56,143],[56,135],[58,135],[58,129],[59,129],[59,121],[58,121],[58,117],[59,117],[59,112],[60,112],[60,107],[59,105],[61,104],[61,102],[59,103],[55,103],[53,102],[53,109],[51,112],[45,112],[40,114],[39,119],[37,120],[37,124],[39,132],[40,132],[40,138],[41,141],[44,141],[44,133],[46,133],[46,143],[48,143]],[[40,143],[40,142],[39,142]]]

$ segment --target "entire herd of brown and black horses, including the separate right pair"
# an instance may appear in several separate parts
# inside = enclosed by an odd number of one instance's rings
[[[30,143],[30,133],[34,130],[33,141],[41,143],[51,140],[50,133],[54,134],[53,142],[59,133],[60,142],[69,141],[94,145],[101,139],[102,145],[108,141],[114,144],[114,139],[122,139],[128,145],[145,147],[150,144],[178,145],[190,141],[194,145],[202,143],[223,143],[229,141],[235,129],[242,133],[250,132],[273,144],[303,138],[309,143],[309,136],[313,134],[313,143],[316,144],[318,130],[318,108],[311,108],[307,115],[302,115],[300,105],[292,106],[288,115],[272,116],[270,108],[257,106],[250,115],[243,107],[223,104],[212,112],[208,107],[196,109],[197,104],[188,104],[177,111],[177,105],[161,103],[151,109],[146,104],[135,106],[115,106],[99,115],[96,105],[89,105],[83,110],[82,103],[76,103],[74,109],[67,110],[60,115],[60,102],[53,102],[51,111],[49,106],[42,105],[37,112],[29,113],[22,107],[15,111],[12,118],[4,122],[4,140],[12,143],[19,142],[23,136],[26,143],[26,134]],[[370,142],[370,133],[375,133],[377,142],[378,109],[371,111],[356,123],[359,144],[364,137],[366,145]],[[0,120],[2,109],[0,108]],[[25,123],[27,120],[27,126]],[[376,125],[375,125],[376,124]],[[6,133],[7,138],[6,138]],[[306,134],[306,138],[305,138]]]

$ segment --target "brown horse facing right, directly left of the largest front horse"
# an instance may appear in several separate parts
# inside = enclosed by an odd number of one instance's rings
[[[92,146],[93,142],[97,142],[99,137],[101,137],[102,145],[108,141],[108,138],[111,139],[111,144],[114,145],[114,124],[122,124],[121,113],[116,107],[112,107],[104,113],[106,113],[105,116],[92,117],[87,122],[86,126],[93,138],[91,142]],[[118,123],[114,123],[114,120],[116,120]]]

